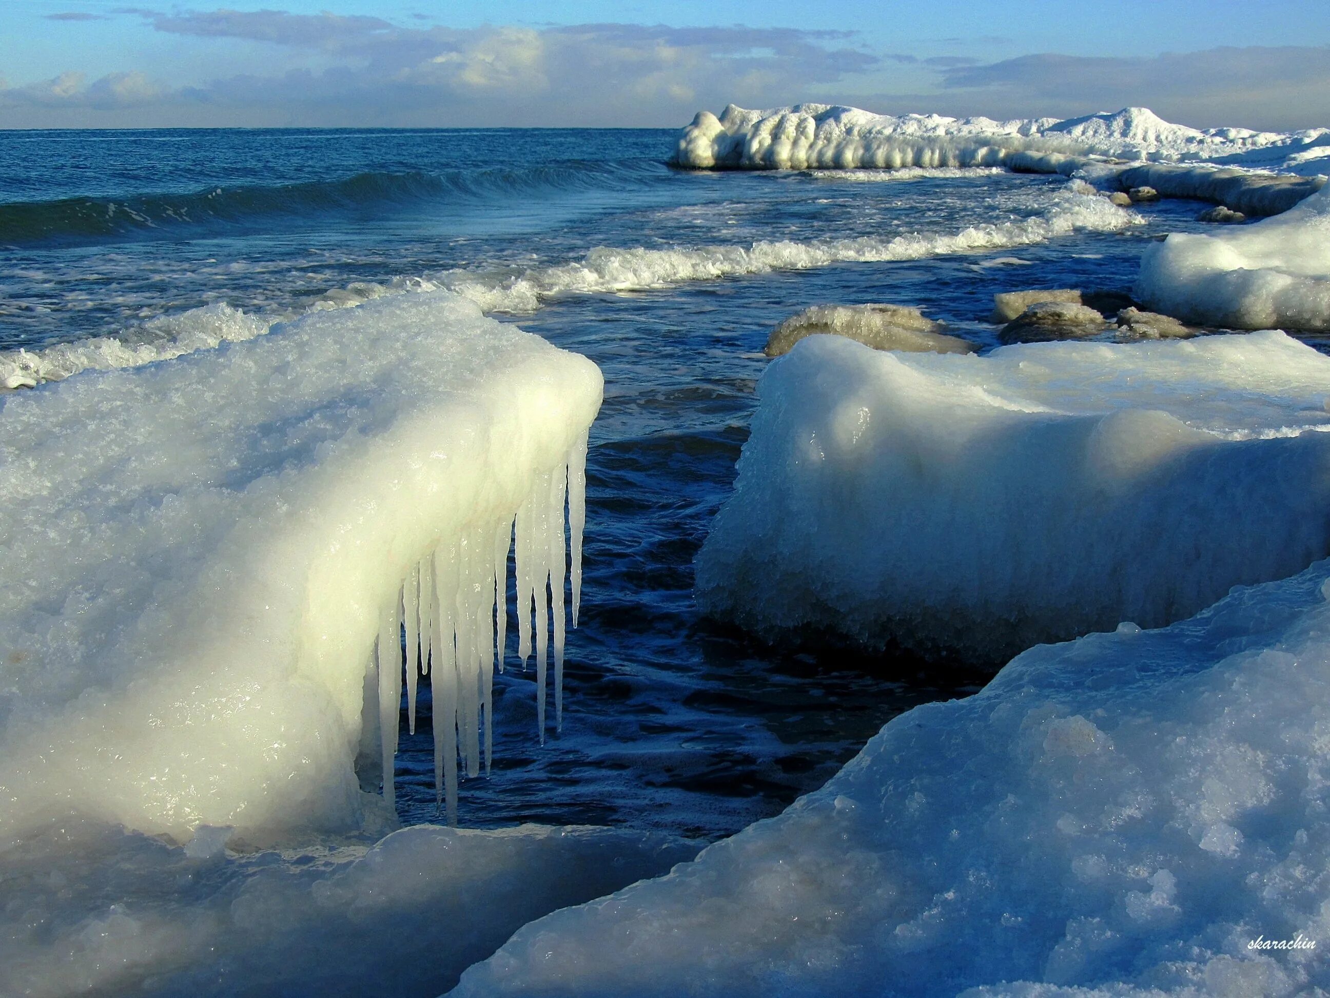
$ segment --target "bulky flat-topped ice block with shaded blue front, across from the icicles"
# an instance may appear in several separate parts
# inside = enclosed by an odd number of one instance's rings
[[[1282,333],[771,363],[700,604],[995,663],[1330,552],[1330,358]]]

